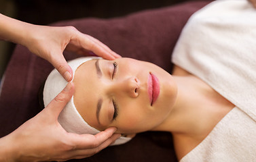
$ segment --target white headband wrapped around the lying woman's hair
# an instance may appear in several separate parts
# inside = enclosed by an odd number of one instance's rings
[[[101,57],[80,57],[68,62],[73,70],[73,78],[75,76],[75,70],[77,70],[81,64],[91,59],[101,59]],[[68,82],[58,73],[56,69],[52,70],[45,81],[45,86],[43,88],[43,103],[45,107],[57,96],[58,93],[62,91],[63,88],[65,88],[67,83]],[[58,121],[62,128],[64,128],[67,132],[77,134],[97,134],[100,132],[99,130],[89,126],[89,124],[84,121],[83,117],[81,117],[75,108],[73,97],[69,103],[67,103],[66,107],[61,111],[60,115],[58,116]],[[112,145],[124,144],[130,139],[131,138],[120,137],[115,140]]]

